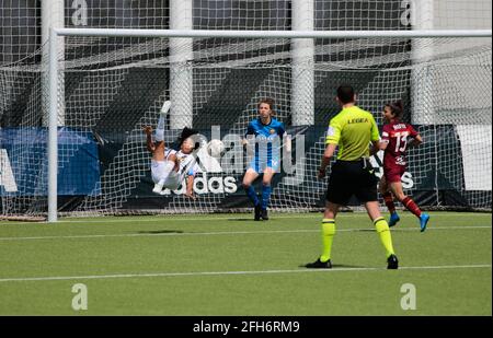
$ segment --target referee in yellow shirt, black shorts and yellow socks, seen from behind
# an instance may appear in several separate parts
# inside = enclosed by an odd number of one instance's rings
[[[319,170],[319,178],[325,176],[325,170],[339,145],[337,161],[332,166],[326,191],[326,205],[322,221],[323,253],[319,259],[306,265],[307,268],[332,268],[331,247],[335,234],[335,217],[341,206],[348,203],[351,197],[365,203],[365,208],[375,224],[387,254],[387,268],[397,269],[398,259],[392,247],[389,224],[381,217],[377,177],[369,164],[370,153],[379,150],[380,135],[372,115],[355,105],[356,94],[349,85],[337,89],[337,103],[342,110],[331,119],[326,133],[326,148]],[[369,143],[372,143],[370,151]]]

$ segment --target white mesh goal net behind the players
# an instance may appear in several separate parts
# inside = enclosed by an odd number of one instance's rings
[[[156,4],[160,1],[139,2],[142,8],[123,15],[127,21],[112,16],[118,15],[117,8],[106,9],[111,15],[104,21],[101,14],[100,22],[90,8],[85,9],[93,21],[87,26],[170,28],[170,20],[161,20],[170,16],[168,2],[163,7]],[[293,18],[290,2],[190,1],[192,10],[186,13],[192,15],[195,31],[234,30],[246,35],[251,30],[302,30],[299,18]],[[308,18],[316,32],[410,31],[408,2],[313,1]],[[461,8],[461,2],[445,5],[445,1],[437,1],[442,7],[435,9],[434,27],[440,28],[437,23],[443,27],[454,24],[450,13],[461,18],[463,28],[491,26],[490,2],[474,2],[481,10],[474,11],[475,18],[463,18],[459,14],[468,9]],[[73,15],[66,22],[70,24]],[[136,24],[144,20],[144,24]],[[478,22],[482,25],[477,26]],[[335,89],[343,83],[356,89],[358,105],[371,112],[379,126],[386,103],[404,102],[403,120],[424,139],[422,145],[408,152],[408,171],[402,177],[408,195],[424,208],[491,210],[490,37],[301,39],[239,35],[59,37],[60,214],[249,208],[241,186],[249,154],[240,140],[249,123],[259,116],[259,101],[265,97],[275,101],[275,117],[293,138],[293,151],[284,154],[280,173],[273,180],[270,207],[278,211],[319,210],[328,182],[318,179],[317,171],[329,120],[340,110]],[[2,217],[47,213],[49,81],[47,46],[39,47],[13,56],[0,67]],[[195,200],[185,197],[183,186],[163,195],[152,193],[150,154],[141,128],[156,129],[168,100],[172,107],[164,140],[170,147],[176,147],[185,126],[208,140],[221,139],[226,145],[219,156],[210,156],[205,148],[198,151]],[[381,175],[381,154],[372,163]]]

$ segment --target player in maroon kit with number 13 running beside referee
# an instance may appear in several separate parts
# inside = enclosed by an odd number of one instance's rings
[[[380,149],[383,154],[383,175],[380,179],[380,194],[390,212],[389,226],[399,222],[400,218],[393,205],[393,196],[412,213],[420,219],[421,232],[426,230],[429,215],[421,212],[420,207],[402,190],[401,176],[405,171],[405,151],[408,147],[415,147],[423,142],[414,128],[400,121],[403,106],[398,101],[389,103],[383,108],[383,118],[388,123],[383,126]],[[392,196],[393,195],[393,196]]]

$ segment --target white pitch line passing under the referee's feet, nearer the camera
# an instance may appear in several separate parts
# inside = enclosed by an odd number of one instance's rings
[[[400,270],[438,270],[438,269],[488,269],[491,265],[454,265],[454,266],[421,266],[401,267]],[[257,271],[203,271],[203,272],[154,272],[154,273],[118,273],[93,276],[53,276],[1,278],[0,282],[15,281],[54,281],[54,280],[83,280],[83,279],[115,279],[115,278],[152,278],[152,277],[195,277],[195,276],[241,276],[241,275],[275,275],[275,273],[307,273],[307,272],[345,272],[345,271],[383,271],[386,268],[333,268],[333,269],[297,269],[297,270],[257,270]]]

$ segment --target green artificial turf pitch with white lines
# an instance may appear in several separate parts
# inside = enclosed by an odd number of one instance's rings
[[[399,270],[365,213],[337,217],[332,270],[302,267],[320,255],[316,213],[1,222],[0,315],[491,316],[491,213],[431,215],[420,233],[401,212]],[[401,306],[405,284],[415,310]]]

